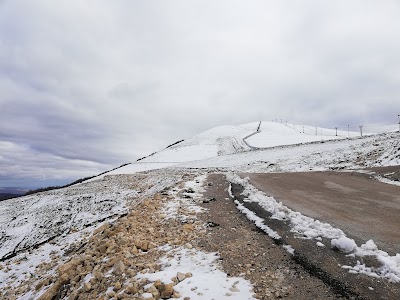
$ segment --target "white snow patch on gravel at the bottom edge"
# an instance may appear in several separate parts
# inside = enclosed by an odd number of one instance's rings
[[[167,249],[167,248],[163,248]],[[161,280],[171,283],[171,278],[178,272],[188,277],[174,286],[182,298],[190,297],[191,300],[202,299],[255,299],[251,284],[240,277],[228,277],[220,270],[217,253],[205,253],[200,250],[176,248],[169,250],[159,261],[161,271],[156,273],[138,274],[136,277],[146,278],[151,282]]]

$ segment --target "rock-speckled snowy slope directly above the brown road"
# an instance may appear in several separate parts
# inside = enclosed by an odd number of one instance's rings
[[[400,164],[399,133],[280,146],[178,165],[239,172],[304,172]]]

